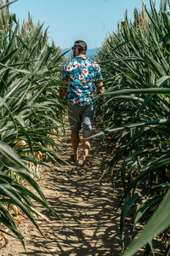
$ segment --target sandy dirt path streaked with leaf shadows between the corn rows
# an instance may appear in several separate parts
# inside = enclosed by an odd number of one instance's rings
[[[62,218],[54,218],[42,207],[38,207],[42,214],[48,216],[48,221],[37,219],[46,239],[28,220],[22,221],[20,231],[26,238],[28,255],[122,255],[118,231],[120,211],[116,212],[122,186],[117,183],[113,190],[110,177],[99,181],[109,159],[107,143],[102,143],[100,137],[94,138],[90,152],[93,157],[92,167],[82,167],[81,159],[80,164],[71,164],[68,131],[61,150],[63,159],[70,166],[62,164],[61,168],[50,163],[54,171],[42,168],[39,184],[49,206]],[[26,253],[19,241],[10,238],[8,246],[0,249],[0,255],[21,256]]]

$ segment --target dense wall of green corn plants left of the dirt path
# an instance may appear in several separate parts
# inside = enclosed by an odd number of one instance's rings
[[[15,2],[15,1],[14,1]],[[25,247],[8,208],[20,207],[39,230],[34,216],[40,216],[31,199],[58,216],[34,177],[42,156],[59,165],[59,143],[64,125],[58,90],[63,55],[54,43],[48,45],[47,30],[33,25],[31,15],[20,25],[1,1],[0,22],[0,223]],[[56,138],[54,140],[54,137]],[[26,188],[27,183],[31,189]],[[36,193],[35,193],[36,192]],[[41,230],[40,230],[41,231]]]

